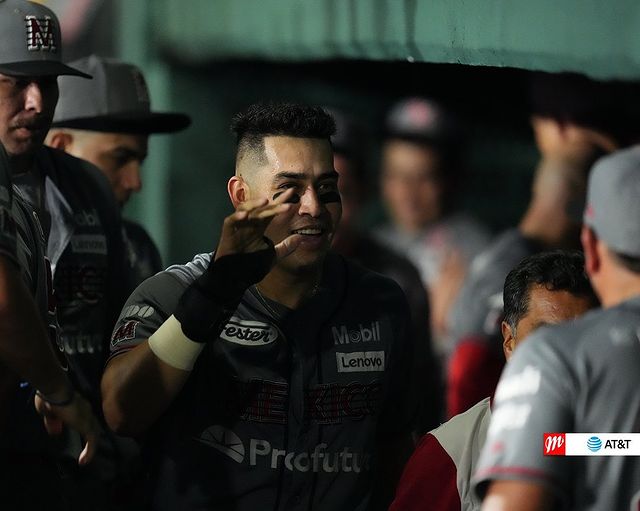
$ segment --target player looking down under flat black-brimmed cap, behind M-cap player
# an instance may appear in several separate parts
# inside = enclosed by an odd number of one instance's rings
[[[91,55],[70,65],[94,78],[59,80],[60,99],[46,144],[98,167],[123,207],[142,188],[149,135],[183,130],[191,120],[184,114],[151,111],[144,76],[132,64]],[[123,219],[122,225],[133,284],[138,285],[162,270],[162,261],[140,224]]]

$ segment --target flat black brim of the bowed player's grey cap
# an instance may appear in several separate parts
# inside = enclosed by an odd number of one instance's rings
[[[54,128],[70,128],[108,133],[175,133],[191,125],[191,118],[177,113],[132,113],[98,117],[84,117],[54,121]]]

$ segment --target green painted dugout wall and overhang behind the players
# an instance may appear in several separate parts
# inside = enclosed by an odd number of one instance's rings
[[[229,212],[228,124],[252,101],[342,106],[376,127],[401,94],[449,94],[454,106],[462,104],[475,116],[473,172],[462,203],[499,229],[513,224],[526,204],[536,151],[522,105],[500,105],[506,89],[478,90],[473,70],[640,76],[637,0],[113,1],[119,6],[120,58],[142,67],[156,109],[184,111],[194,119],[185,133],[151,138],[145,188],[126,211],[148,227],[167,262],[214,248]],[[405,69],[406,82],[395,87],[380,86],[371,70],[354,83],[339,76],[344,63],[325,63],[332,58],[379,62],[386,66],[382,73],[393,73],[384,62],[403,69],[414,62],[415,71]],[[282,61],[289,65],[278,70],[275,63]],[[303,62],[317,62],[320,71]],[[424,63],[470,67],[454,73]],[[443,73],[446,79],[438,81]],[[432,81],[438,85],[431,87]],[[470,107],[487,101],[484,110]],[[373,183],[375,148],[370,170]],[[374,204],[367,218],[379,215]]]

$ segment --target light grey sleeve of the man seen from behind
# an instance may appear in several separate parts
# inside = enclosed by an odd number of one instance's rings
[[[545,456],[543,437],[572,431],[576,377],[551,332],[542,328],[519,346],[500,378],[473,478],[480,498],[493,480],[519,480],[544,485],[566,499],[571,459]]]

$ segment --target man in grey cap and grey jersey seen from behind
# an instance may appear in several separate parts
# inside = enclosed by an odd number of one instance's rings
[[[637,457],[543,455],[547,432],[640,432],[638,190],[638,147],[591,171],[581,240],[603,308],[541,328],[507,365],[474,477],[483,510],[624,510],[640,491]]]

